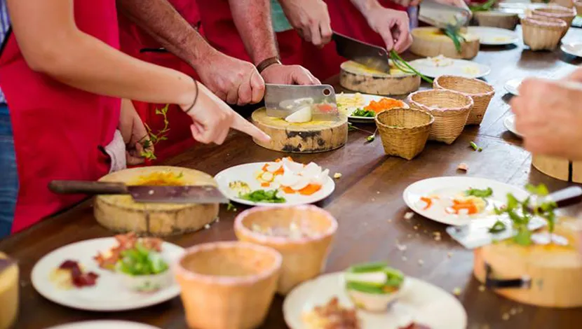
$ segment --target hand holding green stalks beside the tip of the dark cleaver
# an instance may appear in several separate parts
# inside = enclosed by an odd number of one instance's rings
[[[368,25],[380,34],[388,51],[403,52],[412,45],[410,22],[405,11],[377,8],[370,10],[366,19]]]

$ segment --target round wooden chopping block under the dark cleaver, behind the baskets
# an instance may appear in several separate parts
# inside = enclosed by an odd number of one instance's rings
[[[340,66],[339,84],[349,90],[365,94],[398,95],[419,90],[420,76],[416,74],[389,74],[363,70],[355,62],[344,62]]]

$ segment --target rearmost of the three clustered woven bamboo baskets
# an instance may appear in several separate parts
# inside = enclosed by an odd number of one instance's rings
[[[473,109],[469,113],[467,125],[480,125],[489,102],[495,94],[492,85],[483,80],[463,78],[461,76],[439,76],[433,82],[433,88],[462,92],[473,99]]]

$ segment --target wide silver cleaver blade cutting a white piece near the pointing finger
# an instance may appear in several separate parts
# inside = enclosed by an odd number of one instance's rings
[[[291,114],[311,110],[311,120],[338,120],[335,91],[331,85],[265,84],[267,116],[287,118]]]

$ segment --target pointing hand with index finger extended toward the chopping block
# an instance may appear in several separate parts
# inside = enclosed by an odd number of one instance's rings
[[[197,83],[197,82],[196,82]],[[271,137],[233,111],[230,106],[212,94],[202,83],[198,85],[198,96],[194,108],[188,114],[194,120],[190,126],[192,137],[204,144],[222,144],[230,128],[250,135],[259,141],[269,142]],[[187,111],[189,105],[180,105]]]

